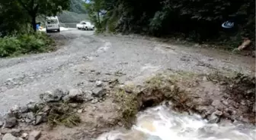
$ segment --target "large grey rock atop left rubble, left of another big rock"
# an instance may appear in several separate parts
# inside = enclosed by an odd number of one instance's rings
[[[44,92],[40,95],[40,99],[44,102],[56,102],[60,101],[64,96],[64,92],[61,89],[56,89],[54,92]]]

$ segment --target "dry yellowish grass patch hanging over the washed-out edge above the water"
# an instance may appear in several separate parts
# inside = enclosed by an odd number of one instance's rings
[[[179,88],[177,82],[178,75],[162,75],[154,76],[146,81],[144,89],[139,92],[134,86],[126,86],[133,88],[133,93],[126,93],[125,89],[116,89],[114,93],[114,101],[120,105],[120,118],[125,126],[130,127],[133,124],[136,114],[140,110],[147,107],[154,107],[162,101],[173,101],[178,104],[177,108],[184,110],[184,103],[189,100],[187,93]],[[174,80],[173,80],[174,79]]]

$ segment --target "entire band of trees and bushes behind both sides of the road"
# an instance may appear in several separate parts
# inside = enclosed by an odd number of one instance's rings
[[[50,15],[66,23],[77,23],[88,15],[99,33],[179,38],[226,49],[249,39],[250,48],[255,49],[255,7],[254,0],[1,0],[0,57],[46,51],[43,48],[51,41],[35,31],[37,22]],[[225,22],[232,27],[223,28]],[[31,42],[30,47],[22,45],[24,40]]]

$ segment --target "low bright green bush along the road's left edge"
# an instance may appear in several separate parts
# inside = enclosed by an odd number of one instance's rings
[[[0,58],[53,51],[53,40],[45,33],[0,38]]]

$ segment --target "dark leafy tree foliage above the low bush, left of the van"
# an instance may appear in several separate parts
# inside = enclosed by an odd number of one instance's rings
[[[36,31],[37,17],[56,15],[69,9],[70,0],[2,0],[0,2],[0,29],[3,36],[24,30],[27,23]],[[26,25],[26,26],[24,26]]]

